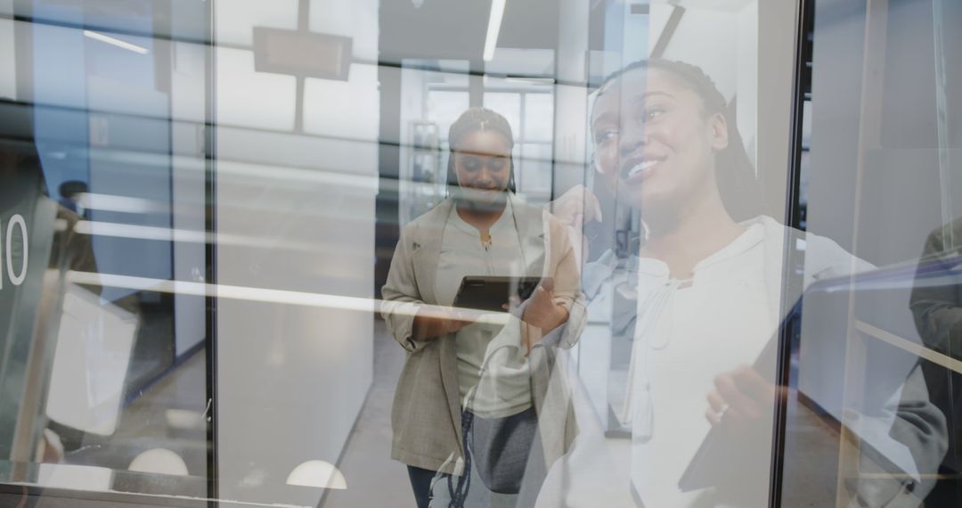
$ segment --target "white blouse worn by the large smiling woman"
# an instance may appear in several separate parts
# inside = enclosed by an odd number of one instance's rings
[[[639,264],[638,322],[622,415],[632,428],[631,483],[646,506],[698,506],[711,492],[683,493],[678,481],[705,439],[706,396],[714,378],[750,365],[776,329],[765,280],[761,223],[698,263],[690,281],[670,276],[660,261]],[[775,292],[777,294],[777,292]],[[770,457],[771,436],[759,436],[748,457]],[[768,464],[761,465],[767,470]],[[765,506],[767,475],[740,485],[747,506]],[[750,483],[750,484],[749,484]],[[714,502],[710,502],[714,505]]]

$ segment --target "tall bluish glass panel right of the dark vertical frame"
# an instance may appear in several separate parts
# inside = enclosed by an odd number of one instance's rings
[[[962,501],[959,121],[947,93],[962,66],[960,39],[944,31],[962,10],[949,4],[856,2],[839,16],[814,3],[809,239],[790,263],[815,282],[790,321],[785,505]],[[823,271],[839,246],[859,273]]]

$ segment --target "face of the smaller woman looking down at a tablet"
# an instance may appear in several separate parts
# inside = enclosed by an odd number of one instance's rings
[[[511,178],[511,143],[494,131],[474,131],[458,141],[454,172],[462,195],[478,204],[504,199]]]

